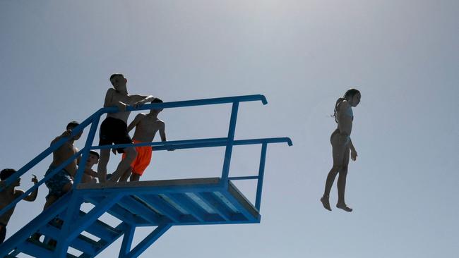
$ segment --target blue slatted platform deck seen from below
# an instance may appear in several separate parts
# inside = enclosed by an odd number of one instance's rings
[[[260,214],[241,192],[220,178],[81,184],[85,201],[100,204],[110,193],[123,197],[107,212],[138,226],[258,223]],[[126,213],[128,213],[126,215]]]

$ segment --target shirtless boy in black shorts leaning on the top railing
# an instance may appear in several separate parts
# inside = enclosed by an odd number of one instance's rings
[[[117,106],[119,112],[107,113],[107,118],[100,125],[99,145],[120,145],[132,143],[131,137],[127,131],[127,121],[130,111],[126,111],[126,106],[140,106],[151,102],[155,97],[143,96],[138,94],[128,94],[126,83],[128,80],[122,74],[113,74],[110,76],[113,88],[107,90],[105,94],[104,107]],[[122,159],[117,166],[117,170],[112,173],[109,179],[112,182],[117,180],[129,169],[130,164],[136,158],[137,152],[134,147],[117,149],[119,153],[126,154],[126,159]],[[99,180],[104,183],[107,180],[107,164],[110,159],[110,149],[100,150],[100,160],[97,166]]]

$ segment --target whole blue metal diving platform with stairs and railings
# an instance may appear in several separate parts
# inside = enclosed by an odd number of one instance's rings
[[[211,104],[232,105],[227,137],[142,142],[131,145],[93,145],[100,116],[104,113],[117,112],[117,109],[105,108],[96,111],[81,125],[78,125],[70,136],[72,137],[84,128],[90,127],[85,147],[40,180],[37,185],[26,191],[23,196],[18,197],[13,203],[0,210],[0,215],[4,214],[8,209],[20,202],[23,197],[54,176],[61,168],[81,156],[81,163],[74,178],[73,190],[58,199],[48,209],[37,214],[35,219],[32,219],[1,244],[0,257],[17,257],[20,254],[46,258],[97,257],[114,241],[122,238],[119,257],[131,258],[142,254],[172,226],[260,223],[261,195],[268,145],[276,143],[292,145],[292,141],[288,137],[234,139],[239,103],[253,101],[267,103],[263,95],[247,95],[145,104],[136,109],[128,106],[128,111],[140,111]],[[4,190],[7,185],[13,183],[42,159],[52,154],[66,140],[59,140],[28,164],[25,164],[23,168],[20,168],[18,172],[5,180],[6,184],[0,190]],[[229,176],[232,149],[234,146],[241,145],[261,146],[260,159],[257,160],[259,162],[258,173],[256,175]],[[127,146],[151,146],[155,151],[225,147],[225,159],[220,177],[117,183],[80,183],[84,161],[87,159],[91,149]],[[249,200],[236,187],[234,184],[236,180],[256,180],[256,196],[254,200]],[[89,211],[87,210],[88,207],[90,207]],[[116,218],[119,221],[117,225],[109,225],[109,223],[102,221],[101,216],[106,214]],[[12,219],[14,219],[14,215]],[[133,235],[136,228],[145,226],[150,226],[154,229],[138,245],[133,247]],[[42,235],[42,237],[40,239],[34,238],[32,237],[34,234]],[[50,245],[50,240],[56,240],[56,245]]]

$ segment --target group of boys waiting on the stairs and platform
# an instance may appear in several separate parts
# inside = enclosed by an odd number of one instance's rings
[[[152,104],[162,103],[162,100],[151,95],[143,96],[139,94],[129,94],[126,87],[127,79],[124,78],[124,75],[122,74],[113,74],[110,76],[109,80],[112,82],[113,88],[109,88],[109,90],[107,90],[104,107],[117,106],[119,111],[117,113],[107,113],[107,118],[102,121],[102,124],[100,125],[99,145],[122,145],[152,142],[158,131],[160,132],[161,140],[165,142],[165,123],[157,118],[158,113],[160,113],[162,109],[151,109],[150,113],[147,114],[139,113],[129,126],[127,125],[129,114],[131,113],[130,111],[126,111],[127,106],[138,107],[148,102]],[[73,135],[73,137],[70,137],[72,130],[76,128],[76,126],[78,126],[78,123],[75,121],[68,123],[66,131],[52,140],[51,145],[61,140],[61,138],[68,138],[61,147],[53,152],[52,163],[49,165],[49,169],[46,171],[44,176],[52,173],[55,168],[78,152],[78,149],[73,145],[73,143],[81,137],[83,131],[77,135]],[[131,139],[129,132],[133,128],[136,128],[136,130],[133,138]],[[119,162],[117,169],[112,174],[107,175],[107,164],[110,157],[110,149],[101,149],[100,155],[91,150],[85,163],[85,170],[81,183],[96,183],[96,178],[99,179],[100,183],[105,183],[107,181],[127,181],[128,178],[130,178],[131,181],[138,181],[142,176],[143,171],[145,171],[145,168],[147,168],[150,164],[152,147],[125,147],[112,149],[112,152],[114,154],[117,154],[117,152],[121,153],[122,159]],[[46,197],[44,209],[47,209],[51,204],[56,202],[57,199],[71,190],[73,186],[73,178],[76,176],[76,172],[78,171],[80,158],[81,157],[78,156],[78,158],[72,160],[67,166],[62,168],[59,172],[54,174],[52,178],[49,178],[49,180],[45,182],[47,188],[49,189],[49,194]],[[93,166],[95,164],[98,164],[97,171],[93,170]],[[0,173],[1,181],[6,180],[15,172],[16,170],[12,168],[2,170]],[[0,183],[2,183],[1,181]],[[38,183],[37,178],[32,178],[32,182],[35,184]],[[20,197],[20,195],[23,195],[23,190],[16,189],[19,185],[20,178],[18,178],[15,183],[8,185],[8,188],[5,188],[0,192],[0,209],[8,206],[16,198]],[[33,202],[35,201],[37,194],[38,189],[25,197],[24,200]],[[4,242],[6,225],[13,214],[14,208],[15,207],[12,207],[0,216],[0,244]],[[38,240],[40,235],[35,234],[32,238]],[[55,241],[53,245],[56,245]]]

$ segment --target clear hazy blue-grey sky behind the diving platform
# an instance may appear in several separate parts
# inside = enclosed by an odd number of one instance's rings
[[[236,139],[294,145],[268,147],[261,223],[172,227],[141,257],[455,257],[458,17],[455,0],[0,1],[0,166],[22,167],[69,121],[100,109],[112,73],[126,75],[130,93],[165,102],[264,94],[266,106],[240,105]],[[334,208],[334,185],[330,212],[319,202],[332,166],[330,115],[350,87],[362,93],[346,185],[354,211]],[[226,137],[229,113],[203,106],[160,118],[168,140],[186,140]],[[253,175],[259,152],[235,147],[229,175]],[[220,176],[223,155],[154,152],[141,180]],[[254,201],[254,182],[237,186]],[[7,238],[46,194],[43,186],[35,202],[18,204]],[[151,230],[138,229],[134,244]]]

